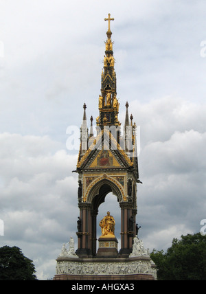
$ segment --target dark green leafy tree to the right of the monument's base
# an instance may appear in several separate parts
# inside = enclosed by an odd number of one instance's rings
[[[206,280],[206,237],[201,234],[181,236],[166,252],[153,250],[158,280]]]

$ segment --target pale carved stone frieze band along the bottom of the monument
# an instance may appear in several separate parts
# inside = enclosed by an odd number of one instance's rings
[[[54,280],[157,280],[155,264],[134,258],[57,258]]]

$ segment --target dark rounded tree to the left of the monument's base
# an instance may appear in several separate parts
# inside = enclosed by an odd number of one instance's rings
[[[18,247],[0,248],[0,280],[37,280],[32,260]]]

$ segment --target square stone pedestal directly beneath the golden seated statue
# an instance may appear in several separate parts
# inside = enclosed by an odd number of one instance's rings
[[[117,238],[99,238],[99,249],[97,258],[117,258],[118,256]]]

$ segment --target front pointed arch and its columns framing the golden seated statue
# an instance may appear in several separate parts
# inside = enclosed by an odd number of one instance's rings
[[[98,232],[100,218],[104,218],[107,212],[111,212],[117,226],[115,225],[115,237],[119,239],[119,233],[121,242],[121,249],[119,255],[128,257],[133,248],[133,237],[135,236],[135,216],[137,210],[133,208],[133,201],[127,201],[127,197],[124,195],[124,190],[118,181],[113,177],[109,177],[107,174],[103,174],[102,177],[95,179],[85,194],[87,201],[79,203],[80,206],[80,219],[82,221],[82,231],[78,232],[78,251],[77,254],[81,257],[98,256],[98,240],[100,241],[101,236]],[[116,204],[115,212],[111,208],[104,208],[102,203],[105,203],[106,196],[108,195],[108,203],[110,198],[113,196],[113,201]],[[116,197],[116,199],[115,199]],[[106,201],[107,203],[107,201]],[[100,212],[101,205],[101,214]],[[111,203],[108,204],[111,207]],[[106,211],[102,211],[102,207]],[[117,213],[117,217],[115,216]]]

